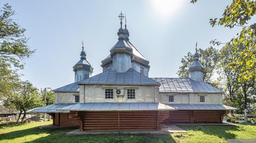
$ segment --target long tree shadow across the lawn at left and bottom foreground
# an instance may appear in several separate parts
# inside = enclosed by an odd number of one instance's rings
[[[15,124],[1,124],[1,127],[12,127]],[[101,135],[74,135],[66,136],[65,133],[74,129],[39,129],[39,126],[0,134],[0,142],[3,139],[12,142],[12,139],[29,135],[38,136],[26,143],[175,143],[170,134],[101,134]],[[45,136],[45,133],[49,134]],[[44,134],[40,136],[40,134]]]

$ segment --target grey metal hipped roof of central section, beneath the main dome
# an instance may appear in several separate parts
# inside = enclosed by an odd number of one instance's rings
[[[160,85],[158,82],[130,68],[126,72],[116,72],[113,69],[94,75],[77,84],[115,84],[115,85]]]

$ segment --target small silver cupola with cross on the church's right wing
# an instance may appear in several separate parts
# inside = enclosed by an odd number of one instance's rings
[[[196,42],[194,62],[189,67],[189,77],[194,81],[203,81],[204,70],[205,68],[199,62],[199,54],[197,53],[197,42]]]

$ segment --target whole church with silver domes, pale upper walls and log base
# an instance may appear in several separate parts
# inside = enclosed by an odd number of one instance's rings
[[[54,89],[55,104],[30,110],[53,117],[55,126],[85,130],[160,130],[160,124],[222,123],[229,110],[223,92],[203,82],[205,68],[195,50],[189,78],[150,78],[149,61],[129,39],[123,14],[117,42],[91,76],[84,47],[73,66],[74,83]],[[154,68],[154,67],[152,67]]]

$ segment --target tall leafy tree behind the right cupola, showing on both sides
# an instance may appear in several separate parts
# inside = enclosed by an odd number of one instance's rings
[[[214,74],[214,71],[216,69],[217,63],[219,61],[219,54],[218,50],[216,50],[213,47],[209,47],[205,50],[202,50],[199,48],[198,54],[200,57],[200,62],[202,66],[205,68],[204,74],[203,74],[203,81],[211,83],[211,78]],[[180,66],[177,75],[179,77],[188,78],[189,77],[189,66],[192,64],[194,59],[194,55],[192,55],[190,52],[188,52],[187,56],[184,56],[182,58],[182,66]]]

